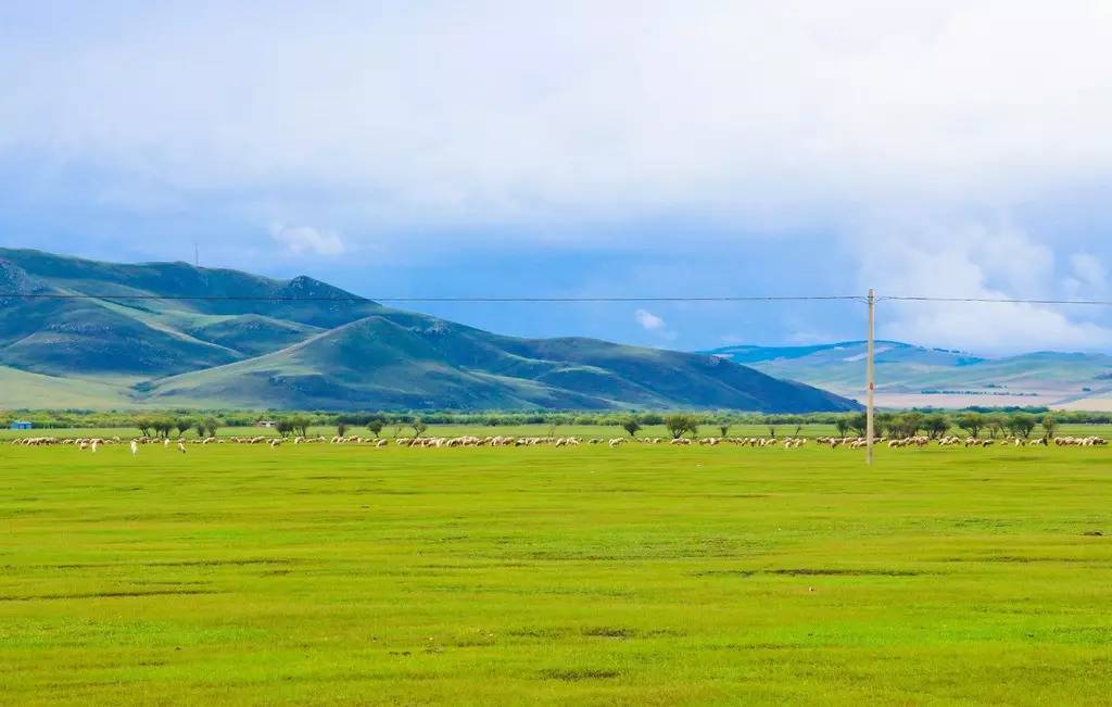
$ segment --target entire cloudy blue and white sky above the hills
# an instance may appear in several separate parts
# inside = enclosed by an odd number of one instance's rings
[[[0,4],[0,246],[368,297],[1112,299],[1105,0]],[[704,349],[861,305],[416,307]],[[1112,308],[877,333],[1112,352]]]

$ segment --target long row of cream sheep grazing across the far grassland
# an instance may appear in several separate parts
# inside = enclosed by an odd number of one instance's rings
[[[158,445],[161,444],[166,449],[170,448],[171,440],[169,438],[151,438],[151,437],[137,437],[130,440],[130,449],[132,455],[138,455],[139,449],[143,445]],[[203,439],[192,439],[186,440],[183,438],[176,440],[177,450],[181,454],[186,452],[186,445],[267,445],[270,449],[277,449],[281,447],[287,440],[281,437],[269,437],[269,436],[256,436],[256,437],[206,437]],[[391,440],[388,439],[375,439],[370,437],[340,437],[335,436],[328,437],[294,437],[289,440],[294,445],[310,445],[310,444],[331,444],[331,445],[364,445],[380,449],[388,447]],[[578,437],[507,437],[507,436],[487,436],[477,437],[473,435],[465,435],[460,437],[417,437],[417,438],[406,438],[401,437],[393,440],[393,444],[398,447],[406,447],[410,449],[429,449],[429,448],[441,448],[441,447],[538,447],[538,446],[553,446],[553,447],[578,447],[579,445],[606,445],[612,449],[624,447],[626,445],[663,445],[674,447],[688,447],[692,445],[698,445],[701,447],[717,447],[719,445],[732,445],[736,447],[752,447],[759,449],[798,449],[811,444],[812,440],[804,437],[703,437],[699,439],[691,439],[687,437],[679,437],[675,439],[665,439],[661,437],[614,437],[609,439],[603,438],[589,438],[580,439]],[[1044,438],[1039,437],[1035,439],[1022,439],[1019,437],[1004,437],[1002,439],[979,439],[976,437],[957,437],[957,436],[943,436],[936,439],[930,437],[902,437],[902,438],[886,438],[878,437],[875,439],[875,444],[878,446],[885,446],[888,449],[900,449],[907,447],[926,447],[931,442],[934,442],[939,447],[993,447],[993,446],[1007,446],[1007,447],[1046,447],[1054,445],[1056,447],[1104,447],[1108,445],[1108,440],[1103,437],[1098,437],[1095,435],[1089,437],[1053,437]],[[12,440],[12,445],[24,446],[24,447],[49,447],[54,445],[71,445],[78,448],[80,451],[96,452],[101,446],[119,445],[122,440],[119,437],[90,437],[90,438],[70,438],[70,437],[21,437]],[[864,437],[817,437],[813,440],[813,444],[821,447],[828,447],[831,449],[837,449],[844,447],[846,449],[861,449],[867,446],[867,440]]]

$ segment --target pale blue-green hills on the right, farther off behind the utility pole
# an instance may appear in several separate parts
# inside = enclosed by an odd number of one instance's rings
[[[712,351],[770,376],[862,399],[865,342],[805,347],[729,346]],[[900,341],[877,341],[876,395],[892,407],[1049,406],[1112,408],[1112,357],[1039,351],[984,358]]]

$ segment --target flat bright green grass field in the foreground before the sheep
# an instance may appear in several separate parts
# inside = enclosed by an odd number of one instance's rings
[[[1110,461],[6,444],[0,703],[1108,704]]]

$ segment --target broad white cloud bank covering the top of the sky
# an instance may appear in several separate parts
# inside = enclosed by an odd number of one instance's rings
[[[374,6],[13,23],[0,150],[168,189],[309,185],[368,225],[664,209],[776,227],[1022,203],[1112,161],[1106,2]]]

